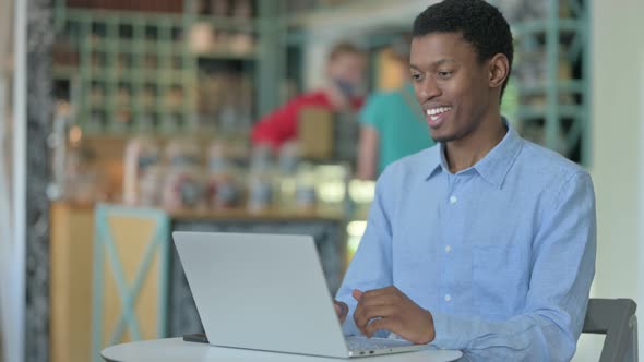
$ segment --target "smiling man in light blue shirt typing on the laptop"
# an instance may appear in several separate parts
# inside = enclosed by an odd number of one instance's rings
[[[496,8],[445,0],[413,35],[412,82],[439,144],[378,181],[336,298],[345,334],[469,361],[568,361],[595,274],[591,178],[501,118],[513,47]]]

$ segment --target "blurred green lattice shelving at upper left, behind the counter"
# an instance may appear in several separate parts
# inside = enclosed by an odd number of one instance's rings
[[[247,134],[258,117],[258,1],[59,0],[55,9],[55,76],[84,134]]]

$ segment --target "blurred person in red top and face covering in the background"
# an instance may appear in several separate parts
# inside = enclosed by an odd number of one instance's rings
[[[285,142],[296,138],[298,116],[307,107],[330,111],[355,111],[362,105],[358,89],[365,75],[365,55],[349,43],[339,43],[329,55],[327,84],[311,93],[299,95],[283,107],[265,116],[253,128],[253,144],[267,144],[279,148]]]

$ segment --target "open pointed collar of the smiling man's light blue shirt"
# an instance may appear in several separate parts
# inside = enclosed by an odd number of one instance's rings
[[[492,184],[493,186],[501,188],[505,176],[510,171],[510,168],[514,164],[516,156],[523,147],[523,140],[509,123],[505,118],[502,119],[503,124],[508,128],[508,132],[503,140],[492,148],[481,160],[476,162],[474,168],[480,177]],[[432,147],[429,153],[429,173],[427,173],[426,180],[430,179],[440,170],[449,172],[448,160],[445,159],[444,143],[440,143],[439,147]]]

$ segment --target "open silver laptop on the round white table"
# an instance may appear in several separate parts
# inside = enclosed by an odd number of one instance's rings
[[[428,349],[401,339],[345,339],[310,236],[176,231],[172,238],[211,345],[333,358]],[[428,352],[444,361],[462,355]]]

